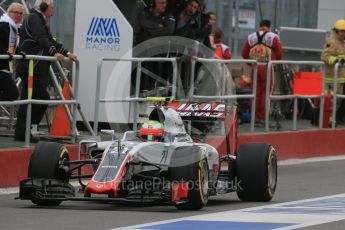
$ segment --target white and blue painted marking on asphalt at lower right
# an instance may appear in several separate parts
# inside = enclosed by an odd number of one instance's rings
[[[250,223],[285,224],[286,227],[274,229],[292,230],[340,220],[345,220],[345,194],[196,215],[110,230],[174,229],[182,222],[194,222],[196,223],[194,226],[207,224],[207,222],[212,222],[213,225],[228,223],[228,228],[231,228],[233,223],[242,223],[244,225]],[[224,226],[222,229],[225,229]],[[235,229],[242,228],[237,226]]]

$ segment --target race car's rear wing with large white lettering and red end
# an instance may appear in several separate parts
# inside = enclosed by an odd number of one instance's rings
[[[226,105],[222,103],[181,103],[170,102],[168,106],[173,107],[183,118],[225,118]]]

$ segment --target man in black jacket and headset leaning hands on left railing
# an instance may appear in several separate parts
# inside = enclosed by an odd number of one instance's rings
[[[47,25],[47,19],[53,16],[53,13],[53,0],[36,0],[34,7],[30,10],[30,14],[24,19],[20,30],[19,47],[22,52],[30,55],[54,56],[59,61],[63,61],[66,56],[76,61],[76,55],[68,52],[63,48],[62,44],[53,39]],[[22,100],[28,98],[28,63],[28,60],[22,60],[17,66],[17,73],[23,81]],[[48,61],[34,61],[32,99],[50,99],[47,92],[49,68],[50,62]],[[19,141],[24,141],[25,138],[26,108],[26,105],[21,105],[18,112],[15,139]],[[32,105],[32,124],[39,124],[41,122],[46,108],[47,105]]]

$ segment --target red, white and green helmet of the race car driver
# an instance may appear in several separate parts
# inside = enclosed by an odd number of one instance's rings
[[[164,135],[164,126],[158,121],[146,121],[141,126],[140,137],[143,141],[160,142]]]

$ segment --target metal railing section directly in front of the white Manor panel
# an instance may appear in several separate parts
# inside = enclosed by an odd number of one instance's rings
[[[120,99],[102,99],[101,94],[101,78],[102,78],[102,64],[105,61],[112,62],[135,62],[137,63],[136,70],[136,85],[135,85],[135,98],[120,98]],[[176,97],[176,82],[177,82],[177,61],[176,58],[101,58],[97,64],[97,84],[96,84],[96,102],[95,102],[95,113],[94,113],[94,133],[98,132],[98,122],[99,122],[99,107],[100,103],[116,103],[116,102],[139,102],[144,101],[140,96],[140,84],[141,84],[141,73],[142,73],[142,63],[143,62],[171,62],[173,66],[173,78],[172,78],[172,95],[171,97]],[[130,75],[131,76],[131,75]],[[130,81],[130,79],[129,79]],[[133,113],[133,124],[136,129],[138,118],[137,118],[137,104],[134,107]]]

